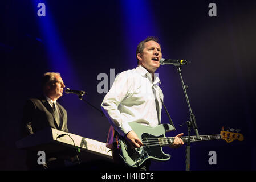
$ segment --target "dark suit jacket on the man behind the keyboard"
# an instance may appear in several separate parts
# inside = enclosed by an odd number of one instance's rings
[[[27,100],[23,108],[23,136],[33,134],[46,127],[68,132],[67,111],[58,102],[56,102],[56,105],[58,105],[60,114],[63,117],[62,126],[58,126],[56,123],[54,115],[52,114],[52,107],[44,96]]]

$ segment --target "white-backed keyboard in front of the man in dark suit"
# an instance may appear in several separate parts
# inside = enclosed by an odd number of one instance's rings
[[[76,151],[79,151],[79,158],[83,162],[113,160],[112,151],[106,147],[105,143],[54,128],[37,131],[18,140],[15,144],[19,149],[44,151],[46,154],[62,154],[68,157],[76,155]]]

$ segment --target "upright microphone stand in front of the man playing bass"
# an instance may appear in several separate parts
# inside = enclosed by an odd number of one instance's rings
[[[193,129],[194,129],[194,132],[196,133],[197,139],[199,140],[200,138],[199,138],[199,134],[198,134],[196,118],[195,118],[195,115],[192,113],[192,109],[191,109],[191,106],[189,104],[188,94],[186,93],[186,89],[188,89],[188,86],[184,85],[184,81],[182,79],[180,67],[181,67],[181,65],[177,66],[177,71],[178,71],[178,73],[180,75],[180,78],[181,78],[182,88],[184,90],[186,102],[188,104],[189,113],[190,113],[190,121],[185,122],[187,127],[188,127],[188,140],[186,142],[187,143],[187,146],[186,146],[186,171],[189,171],[190,170],[190,133],[191,133],[191,126],[193,126]],[[183,123],[180,126],[183,126],[185,123]]]

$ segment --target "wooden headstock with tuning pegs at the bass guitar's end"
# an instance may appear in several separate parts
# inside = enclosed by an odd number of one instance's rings
[[[237,133],[234,133],[235,129],[228,129],[227,131],[224,131],[224,127],[222,127],[222,131],[220,133],[221,138],[226,140],[227,143],[233,142],[234,140],[243,140],[243,135],[239,133],[239,129],[235,130]]]

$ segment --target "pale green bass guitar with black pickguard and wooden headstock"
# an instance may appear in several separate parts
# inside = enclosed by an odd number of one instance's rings
[[[117,136],[117,148],[124,162],[131,167],[139,167],[147,159],[157,161],[166,161],[170,159],[169,154],[162,151],[162,147],[170,146],[174,142],[174,137],[165,137],[165,133],[173,130],[173,126],[169,124],[161,124],[156,127],[148,127],[140,123],[128,123],[132,130],[135,131],[143,146],[140,148],[131,148],[129,143],[121,135]],[[188,136],[182,136],[181,139],[186,143]],[[190,142],[199,142],[205,140],[224,139],[227,143],[234,140],[243,140],[243,135],[222,130],[217,135],[200,135],[200,139],[196,136],[190,136]]]

